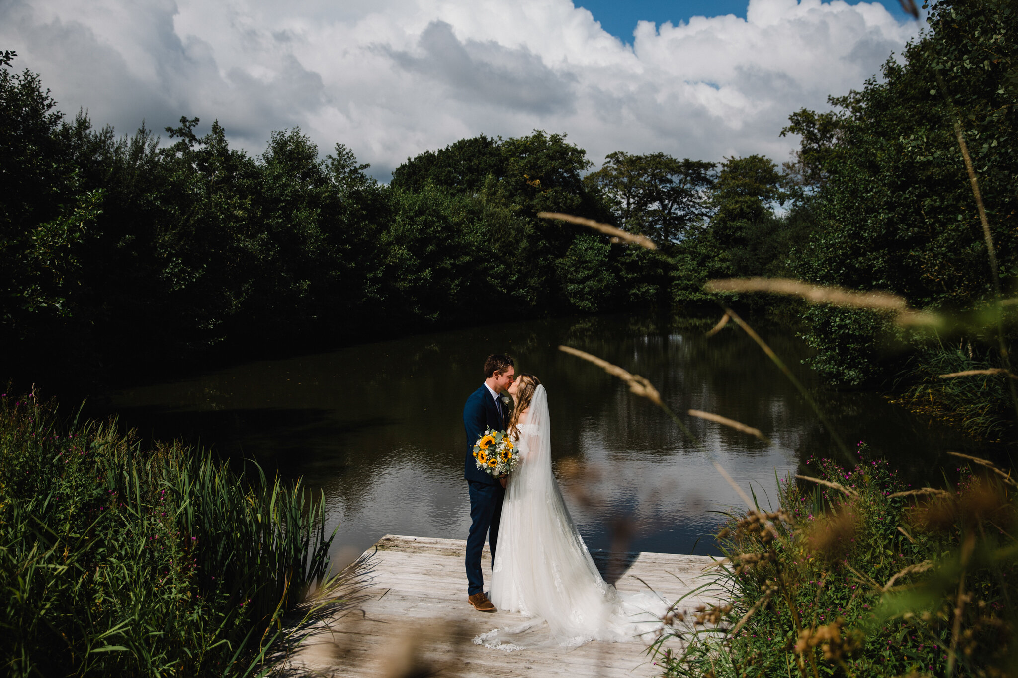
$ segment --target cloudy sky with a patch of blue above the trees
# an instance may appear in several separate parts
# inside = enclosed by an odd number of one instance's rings
[[[706,16],[702,15],[706,14]],[[858,88],[918,24],[840,0],[0,0],[0,49],[60,110],[218,119],[261,152],[299,126],[373,174],[478,133],[783,161],[788,114]]]

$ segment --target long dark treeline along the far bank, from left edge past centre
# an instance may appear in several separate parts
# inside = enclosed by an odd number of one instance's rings
[[[767,212],[780,181],[756,157],[619,152],[589,173],[582,148],[535,130],[426,151],[386,186],[299,129],[253,157],[218,123],[199,135],[181,118],[161,139],[66,119],[15,58],[0,68],[2,376],[50,392],[223,352],[671,307],[702,297],[672,261],[681,243]],[[621,223],[663,255],[541,210]]]

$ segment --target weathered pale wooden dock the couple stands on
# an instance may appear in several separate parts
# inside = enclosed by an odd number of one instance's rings
[[[328,619],[288,660],[294,675],[314,676],[653,676],[643,642],[590,642],[571,650],[502,652],[472,642],[517,614],[475,611],[466,601],[466,542],[387,535],[369,549],[367,589],[356,609]],[[703,582],[706,556],[593,553],[606,578],[620,591],[653,588],[674,601]],[[491,562],[483,563],[486,582]],[[641,581],[642,580],[642,581]],[[645,582],[645,583],[644,583]],[[708,595],[682,608],[711,603]]]

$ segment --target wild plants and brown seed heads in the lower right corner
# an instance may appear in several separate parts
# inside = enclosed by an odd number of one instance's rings
[[[732,603],[673,615],[689,644],[658,643],[663,675],[1011,675],[1011,488],[910,493],[859,445],[851,469],[807,461],[827,485],[789,479],[777,510],[732,516],[714,582]]]

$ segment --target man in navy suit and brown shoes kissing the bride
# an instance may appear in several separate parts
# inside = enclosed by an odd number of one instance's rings
[[[513,360],[495,354],[485,361],[485,383],[466,398],[463,408],[463,426],[466,428],[466,460],[463,477],[470,491],[470,536],[466,540],[467,600],[479,612],[495,612],[495,606],[485,595],[485,577],[480,572],[480,554],[485,550],[485,536],[491,546],[495,562],[495,542],[499,536],[499,517],[502,515],[502,496],[505,480],[489,476],[477,468],[473,458],[473,443],[486,428],[504,431],[509,423],[509,403],[502,400],[502,393],[516,379]]]

